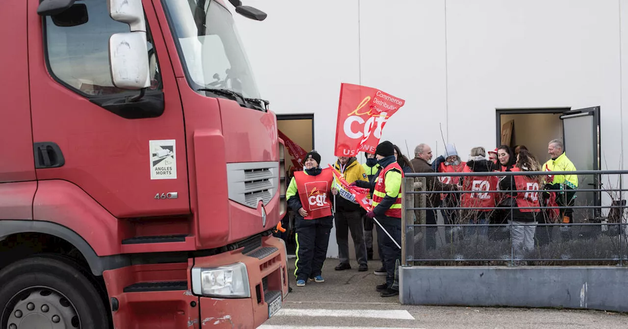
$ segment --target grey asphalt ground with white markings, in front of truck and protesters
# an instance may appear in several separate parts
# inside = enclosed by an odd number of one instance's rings
[[[290,286],[282,310],[262,329],[281,328],[628,328],[628,314],[593,310],[531,308],[482,308],[460,306],[401,305],[398,296],[382,298],[375,286],[384,276],[373,274],[379,261],[369,262],[369,271],[335,271],[337,259],[327,259],[324,283],[308,282],[297,287],[294,259],[289,259]]]

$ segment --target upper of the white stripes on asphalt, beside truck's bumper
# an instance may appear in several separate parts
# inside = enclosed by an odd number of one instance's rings
[[[414,320],[406,310],[321,310],[321,309],[301,309],[282,308],[275,316],[335,316],[338,318],[373,318],[373,319],[398,319]]]

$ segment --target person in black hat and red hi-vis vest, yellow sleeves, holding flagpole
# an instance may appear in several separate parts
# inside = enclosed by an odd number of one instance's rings
[[[377,226],[377,236],[381,237],[382,254],[386,266],[386,283],[377,285],[376,290],[381,291],[382,297],[399,295],[398,267],[401,263],[401,249],[396,244],[401,244],[401,184],[403,182],[403,169],[394,157],[394,147],[389,141],[377,145],[375,155],[377,163],[383,168],[379,172],[373,191],[372,210],[367,217],[375,217],[388,234],[391,240]],[[353,184],[359,187],[372,187],[369,182],[358,180]]]

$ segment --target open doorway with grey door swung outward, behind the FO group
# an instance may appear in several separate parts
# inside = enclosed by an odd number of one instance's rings
[[[524,145],[541,163],[548,161],[548,142],[558,139],[577,170],[600,170],[600,107],[497,109],[497,145]],[[578,189],[597,189],[597,175],[578,175]],[[577,192],[575,206],[600,206],[600,192]],[[600,209],[574,209],[573,221],[600,217]]]

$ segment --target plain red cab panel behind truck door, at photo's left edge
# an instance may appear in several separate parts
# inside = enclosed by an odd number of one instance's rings
[[[26,2],[0,10],[0,219],[32,219],[37,188],[28,100]],[[2,225],[2,224],[0,224]]]

